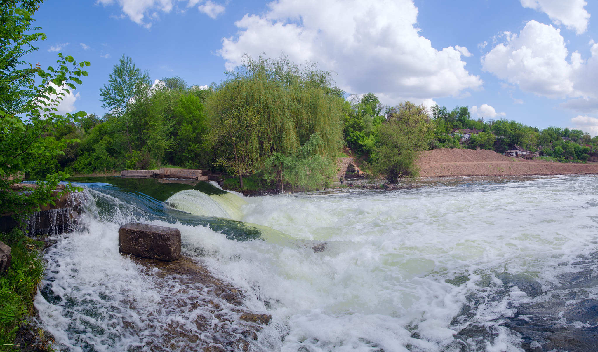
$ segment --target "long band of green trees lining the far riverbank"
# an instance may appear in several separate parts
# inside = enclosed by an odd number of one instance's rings
[[[245,56],[224,81],[199,87],[180,77],[152,84],[149,72],[123,54],[100,96],[109,112],[49,131],[56,140],[78,142],[38,164],[31,176],[176,166],[233,175],[236,180],[227,182],[240,189],[315,189],[329,184],[343,148],[371,175],[395,183],[417,177],[417,156],[428,149],[504,152],[521,146],[587,161],[598,145],[581,130],[476,120],[467,106],[449,111],[411,102],[382,105],[373,93],[347,97],[330,72],[315,63],[301,67],[285,56]],[[463,142],[460,128],[477,133]]]

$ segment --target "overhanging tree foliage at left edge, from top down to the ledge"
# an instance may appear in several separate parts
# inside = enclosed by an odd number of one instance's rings
[[[86,115],[85,112],[59,115],[57,105],[75,89],[75,84],[82,83],[80,77],[87,76],[82,68],[89,66],[89,62],[78,63],[71,56],[59,54],[56,68],[43,70],[30,65],[29,71],[17,69],[20,57],[35,50],[31,42],[44,38],[42,33],[24,34],[25,30],[38,29],[31,28],[30,22],[39,4],[41,1],[0,2],[2,19],[7,21],[0,32],[0,65],[3,65],[0,90],[4,94],[0,110],[0,214],[13,213],[17,217],[38,210],[39,204],[54,203],[51,190],[68,175],[51,170],[30,194],[12,192],[10,186],[40,164],[56,163],[57,156],[65,154],[63,149],[78,140],[57,139],[52,132]],[[67,187],[65,191],[69,190]]]

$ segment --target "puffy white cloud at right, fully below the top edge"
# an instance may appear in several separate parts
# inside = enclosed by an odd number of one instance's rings
[[[519,35],[505,34],[507,41],[482,57],[484,71],[538,95],[579,96],[573,87],[572,75],[583,62],[576,51],[568,61],[569,53],[560,29],[532,20]]]

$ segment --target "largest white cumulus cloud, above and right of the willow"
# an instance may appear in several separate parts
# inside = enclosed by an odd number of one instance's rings
[[[349,93],[376,93],[386,102],[459,96],[482,85],[465,69],[464,47],[436,50],[419,35],[411,0],[279,0],[264,14],[246,14],[239,32],[222,39],[227,69],[243,54],[280,53],[334,71]]]

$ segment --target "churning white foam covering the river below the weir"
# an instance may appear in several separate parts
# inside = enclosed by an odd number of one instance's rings
[[[248,307],[268,309],[274,322],[288,327],[283,344],[274,350],[406,351],[412,346],[457,351],[461,347],[454,334],[477,323],[489,333],[468,350],[520,351],[518,336],[499,325],[514,313],[510,304],[531,298],[517,287],[494,296],[503,287],[496,274],[507,271],[555,283],[557,275],[571,270],[559,263],[596,252],[596,177],[498,185],[474,181],[325,197],[249,197],[239,207],[242,221],[301,240],[327,241],[328,250],[321,253],[268,241],[230,241],[203,226],[153,223],[181,229],[187,255],[201,258],[217,276],[245,290]],[[57,271],[50,276],[56,294],[80,301],[87,295],[97,307],[114,312],[114,329],[102,325],[114,333],[122,330],[121,322],[143,325],[151,314],[152,326],[167,321],[157,304],[166,293],[118,255],[116,230],[123,221],[93,220],[87,232],[56,237],[47,255],[50,270]],[[445,281],[456,276],[469,281],[458,286]],[[473,304],[469,295],[484,299],[472,306],[468,320],[453,323],[463,305]],[[145,313],[127,310],[124,302],[133,298],[147,307]],[[51,332],[63,345],[76,346],[76,334],[64,327],[69,319],[60,319],[67,316],[65,305],[36,298]],[[68,309],[75,311],[74,322],[83,319],[77,314],[84,313]],[[81,338],[99,343],[93,334],[91,329]],[[121,340],[118,348],[145,341],[134,334]]]

